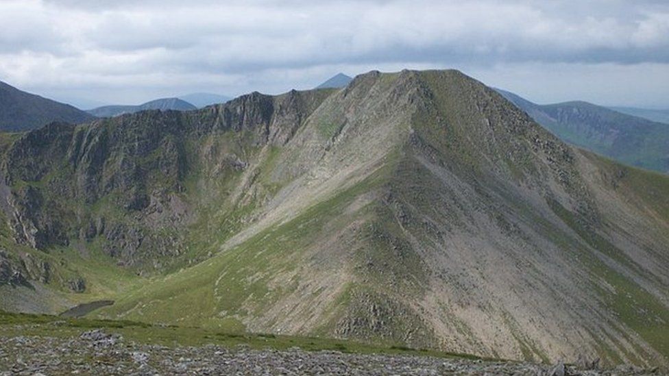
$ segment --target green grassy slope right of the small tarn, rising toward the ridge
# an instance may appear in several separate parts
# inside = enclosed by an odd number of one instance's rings
[[[332,228],[347,225],[351,218],[341,215],[345,208],[358,195],[379,184],[380,179],[378,174],[373,175],[287,223],[273,225],[241,245],[130,292],[99,314],[243,329],[239,318],[258,316],[293,292],[298,283],[295,279],[280,286],[269,284],[276,276],[289,275],[300,266],[304,252],[319,237],[326,236]]]

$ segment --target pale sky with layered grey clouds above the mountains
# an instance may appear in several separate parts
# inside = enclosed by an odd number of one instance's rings
[[[669,1],[0,0],[0,80],[84,108],[402,68],[669,108]]]

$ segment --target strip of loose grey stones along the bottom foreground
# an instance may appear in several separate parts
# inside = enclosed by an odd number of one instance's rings
[[[657,371],[620,366],[577,370],[518,362],[485,362],[411,355],[336,351],[162,347],[125,341],[97,329],[75,338],[0,338],[0,375],[646,375]]]

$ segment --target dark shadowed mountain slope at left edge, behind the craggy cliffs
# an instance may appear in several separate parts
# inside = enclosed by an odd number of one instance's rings
[[[25,131],[53,121],[84,123],[93,118],[71,105],[29,94],[0,82],[0,131]]]

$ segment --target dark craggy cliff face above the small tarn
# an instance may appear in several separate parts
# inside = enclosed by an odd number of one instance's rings
[[[105,253],[122,264],[145,266],[151,255],[169,260],[182,252],[177,233],[193,219],[196,203],[184,192],[201,158],[216,160],[217,177],[234,179],[228,175],[247,166],[246,148],[286,142],[318,97],[252,93],[200,112],[148,111],[29,132],[3,160],[2,207],[14,239],[48,250],[101,237]],[[228,132],[245,144],[199,154]]]

